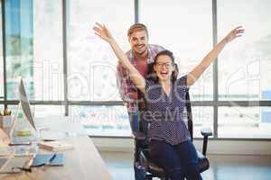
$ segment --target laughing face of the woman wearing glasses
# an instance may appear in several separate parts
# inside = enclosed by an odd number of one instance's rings
[[[154,64],[154,71],[159,81],[167,81],[171,79],[173,73],[173,60],[167,55],[161,55]]]

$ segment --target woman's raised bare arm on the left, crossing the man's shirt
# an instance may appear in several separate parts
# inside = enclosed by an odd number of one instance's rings
[[[115,52],[117,58],[120,63],[127,69],[129,77],[135,84],[135,86],[140,89],[143,93],[145,93],[145,78],[142,76],[137,69],[131,64],[131,62],[126,57],[126,54],[122,49],[119,48],[117,41],[113,38],[110,31],[107,29],[105,25],[101,25],[96,23],[93,27],[95,34],[98,35],[102,40],[106,40],[113,51]]]

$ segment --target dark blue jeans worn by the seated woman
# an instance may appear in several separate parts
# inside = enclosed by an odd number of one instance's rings
[[[161,140],[151,140],[150,156],[154,163],[165,169],[172,180],[201,180],[197,151],[192,140],[171,145]]]

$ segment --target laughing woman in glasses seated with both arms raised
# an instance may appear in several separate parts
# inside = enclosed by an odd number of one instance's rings
[[[193,85],[218,57],[225,45],[241,36],[244,30],[238,26],[230,31],[197,67],[181,78],[176,76],[173,53],[169,50],[159,52],[154,58],[154,76],[148,80],[145,80],[129,62],[105,25],[96,23],[93,30],[109,43],[119,61],[126,67],[133,83],[145,94],[147,105],[145,115],[151,120],[149,127],[151,157],[159,166],[164,167],[172,180],[184,177],[188,180],[201,179],[196,149],[182,121],[185,94],[189,86]]]

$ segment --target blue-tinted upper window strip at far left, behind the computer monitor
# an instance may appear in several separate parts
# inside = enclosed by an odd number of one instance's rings
[[[33,89],[33,2],[5,1],[7,99],[17,99],[17,76],[23,76],[30,99]]]

